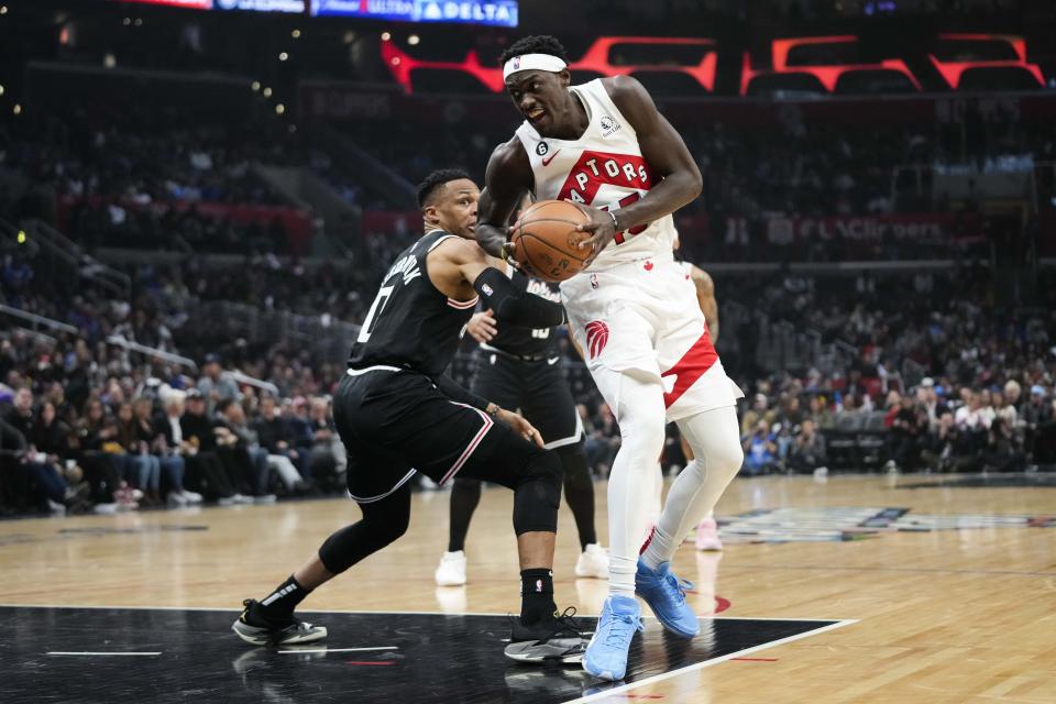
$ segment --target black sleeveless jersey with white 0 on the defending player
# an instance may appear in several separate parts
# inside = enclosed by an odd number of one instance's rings
[[[477,301],[452,300],[429,280],[426,256],[453,237],[432,230],[396,257],[352,345],[351,369],[383,364],[430,377],[448,369]]]

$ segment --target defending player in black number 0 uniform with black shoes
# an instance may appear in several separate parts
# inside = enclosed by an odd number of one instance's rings
[[[410,484],[455,474],[514,490],[521,610],[506,657],[578,662],[585,641],[553,603],[553,544],[561,463],[527,420],[473,394],[444,370],[477,301],[508,324],[549,328],[560,305],[518,292],[473,239],[480,191],[463,172],[431,174],[419,187],[427,232],[385,274],[334,394],[333,418],[348,449],[349,493],[363,518],[338,530],[302,568],[245,609],[232,626],[253,645],[311,642],[327,629],[294,608],[320,584],[407,530]]]

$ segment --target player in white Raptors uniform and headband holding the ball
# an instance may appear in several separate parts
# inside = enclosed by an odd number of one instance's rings
[[[669,630],[700,625],[669,563],[686,531],[718,501],[743,461],[739,389],[712,344],[695,288],[674,261],[671,213],[701,193],[678,132],[634,78],[570,86],[564,48],[550,36],[503,54],[506,90],[526,122],[487,165],[476,237],[510,255],[507,218],[526,190],[579,204],[590,216],[586,271],[562,283],[572,334],[619,422],[608,484],[609,596],[583,667],[622,679],[641,629],[641,596]],[[648,548],[649,495],[664,426],[675,421],[696,460],[675,480]]]

